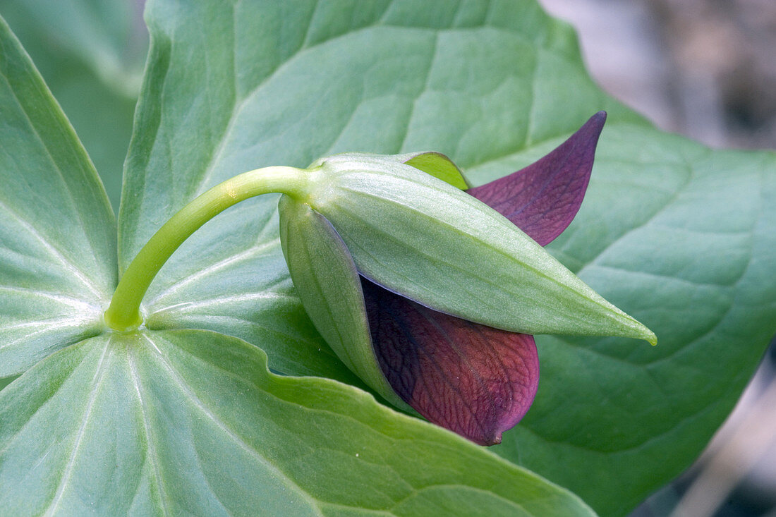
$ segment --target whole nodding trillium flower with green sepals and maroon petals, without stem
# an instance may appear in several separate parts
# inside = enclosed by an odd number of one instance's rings
[[[307,313],[348,368],[398,408],[493,445],[534,399],[531,334],[654,342],[542,248],[579,209],[604,120],[467,193],[437,153],[314,164],[317,190],[280,201],[282,248]]]

